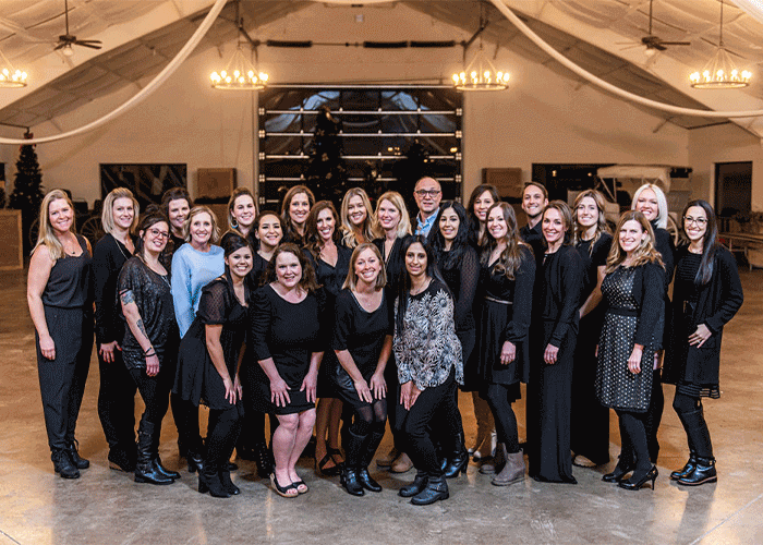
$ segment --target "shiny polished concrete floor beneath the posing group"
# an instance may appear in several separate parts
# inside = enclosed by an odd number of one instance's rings
[[[686,439],[669,402],[659,431],[663,450],[654,492],[633,493],[603,483],[619,451],[615,416],[613,461],[574,469],[577,486],[525,480],[491,486],[471,464],[450,481],[450,499],[413,507],[397,496],[412,480],[376,473],[382,494],[349,496],[338,477],[318,477],[312,460],[300,472],[311,486],[284,499],[242,462],[234,480],[242,494],[216,499],[196,492],[183,471],[172,486],[136,484],[108,469],[96,413],[98,367],[94,358],[77,436],[92,461],[77,481],[55,475],[47,448],[34,356],[34,329],[26,310],[25,276],[0,272],[0,545],[24,544],[232,544],[232,543],[763,543],[763,272],[741,271],[746,302],[724,337],[719,400],[706,403],[718,459],[718,483],[683,488],[668,480],[683,464]],[[522,402],[518,403],[521,412]],[[468,437],[474,419],[470,398],[461,408]],[[523,422],[520,416],[520,422]],[[389,436],[379,452],[389,448]],[[162,459],[178,469],[174,431],[166,421]]]

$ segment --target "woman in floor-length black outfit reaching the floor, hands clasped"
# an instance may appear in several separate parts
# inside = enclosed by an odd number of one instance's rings
[[[570,456],[570,407],[583,265],[571,245],[572,211],[567,203],[548,203],[541,226],[545,249],[536,262],[528,384],[530,475],[535,481],[577,484]]]

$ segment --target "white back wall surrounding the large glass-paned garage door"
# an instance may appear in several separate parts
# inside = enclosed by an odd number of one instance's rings
[[[362,13],[364,21],[355,22]],[[258,39],[355,43],[396,39],[467,38],[458,28],[404,5],[364,9],[316,4],[253,33]],[[205,49],[206,47],[206,49]],[[232,55],[233,44],[203,41],[174,76],[122,118],[85,136],[37,147],[47,187],[63,186],[90,203],[100,197],[100,162],[186,162],[189,185],[196,169],[234,167],[240,185],[252,186],[252,95],[214,90],[208,74]],[[493,50],[491,48],[491,50]],[[460,70],[461,50],[367,50],[316,46],[262,48],[261,68],[271,82],[383,81],[388,77],[449,82]],[[480,183],[483,167],[520,167],[530,178],[533,162],[635,162],[690,165],[688,132],[590,86],[500,49],[495,61],[512,74],[511,89],[467,97],[464,193]],[[96,119],[134,94],[134,86],[95,100],[56,126],[56,133]],[[8,146],[0,157],[8,155]],[[17,155],[14,147],[13,156]],[[9,175],[10,178],[10,175]],[[761,195],[763,197],[763,195]]]

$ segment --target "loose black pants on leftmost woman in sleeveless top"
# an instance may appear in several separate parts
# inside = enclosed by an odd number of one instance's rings
[[[45,427],[50,448],[64,448],[74,440],[90,368],[93,317],[82,308],[45,306],[45,319],[56,344],[56,359],[46,359],[35,334]]]

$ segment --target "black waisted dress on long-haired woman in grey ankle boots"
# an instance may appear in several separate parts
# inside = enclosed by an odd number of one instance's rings
[[[483,389],[487,384],[514,385],[513,400],[520,398],[520,382],[526,383],[530,373],[528,335],[532,315],[535,259],[529,247],[523,247],[522,261],[514,279],[495,270],[483,268],[482,286],[485,299],[480,318],[477,344],[477,374]],[[517,347],[517,355],[508,365],[500,363],[504,342]],[[465,373],[464,373],[465,374]]]

